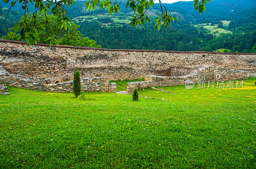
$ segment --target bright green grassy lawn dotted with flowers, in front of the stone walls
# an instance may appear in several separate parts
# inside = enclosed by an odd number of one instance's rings
[[[139,95],[8,87],[0,95],[1,168],[255,168],[255,80]],[[121,88],[120,88],[121,89]]]

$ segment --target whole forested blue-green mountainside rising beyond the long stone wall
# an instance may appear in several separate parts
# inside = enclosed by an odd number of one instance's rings
[[[157,4],[148,12],[151,23],[145,24],[144,27],[131,27],[128,22],[112,19],[116,16],[116,18],[129,21],[132,10],[126,9],[125,3],[120,6],[121,12],[109,15],[105,10],[100,9],[84,11],[84,2],[77,1],[77,5],[68,9],[70,18],[80,26],[78,30],[83,37],[95,40],[102,48],[210,52],[224,48],[231,52],[256,53],[255,0],[246,2],[212,0],[207,4],[206,12],[202,15],[193,9],[192,2],[165,4],[167,10],[178,19],[178,23],[172,23],[169,28],[162,27],[159,32],[154,28],[154,18],[161,10]],[[8,7],[8,3],[1,4],[1,6],[4,5]],[[13,9],[6,20],[8,28],[19,21],[22,16],[22,13],[17,11],[20,9],[18,5]],[[3,10],[3,16],[6,15],[6,10]],[[104,15],[104,17],[99,17],[99,15]],[[83,21],[82,17],[86,16],[89,21]],[[230,23],[224,25],[221,22],[223,20],[230,21]],[[4,18],[0,19],[0,24],[0,35],[4,36],[6,33]],[[214,25],[217,31],[211,32],[203,26],[194,26],[198,24]],[[217,28],[231,33],[218,33]]]

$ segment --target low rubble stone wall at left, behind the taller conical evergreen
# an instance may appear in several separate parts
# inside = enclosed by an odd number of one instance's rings
[[[54,82],[51,78],[26,77],[19,74],[10,74],[0,65],[0,82],[18,88],[28,88],[31,90],[51,91],[51,92],[72,92],[73,81]],[[44,83],[43,83],[44,82]],[[47,84],[49,83],[49,84]],[[81,90],[116,92],[116,83],[108,83],[108,78],[84,77],[81,78]]]

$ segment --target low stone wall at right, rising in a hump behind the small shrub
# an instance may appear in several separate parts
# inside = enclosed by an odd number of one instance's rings
[[[127,83],[127,91],[133,91],[135,88],[147,88],[152,86],[174,86],[184,85],[187,80],[194,83],[202,81],[225,81],[235,79],[247,79],[248,77],[256,77],[256,71],[245,71],[236,69],[226,69],[217,66],[197,67],[190,74],[184,76],[156,76],[146,75],[145,81]]]

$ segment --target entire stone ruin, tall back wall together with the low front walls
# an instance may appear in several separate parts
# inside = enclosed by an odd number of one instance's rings
[[[115,50],[55,46],[0,39],[0,82],[44,91],[72,91],[73,74],[79,70],[83,90],[115,92],[109,80],[136,79],[134,87],[184,84],[187,79],[246,79],[255,77],[256,53],[213,53],[152,50]],[[134,87],[132,87],[134,86]]]

